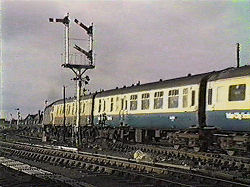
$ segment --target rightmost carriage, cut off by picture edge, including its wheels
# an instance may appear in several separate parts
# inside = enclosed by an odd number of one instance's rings
[[[250,67],[229,68],[207,83],[207,125],[215,126],[220,147],[250,150]]]

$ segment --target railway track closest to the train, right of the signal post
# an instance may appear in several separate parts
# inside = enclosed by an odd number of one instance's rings
[[[169,158],[178,158],[185,161],[199,162],[201,165],[205,165],[207,167],[214,166],[221,170],[223,170],[223,168],[227,168],[228,170],[250,172],[250,158],[248,157],[228,156],[218,153],[190,152],[143,144],[131,145],[123,143],[111,143],[108,147],[118,152],[141,150],[145,153],[154,154],[158,156],[159,159],[167,160]]]

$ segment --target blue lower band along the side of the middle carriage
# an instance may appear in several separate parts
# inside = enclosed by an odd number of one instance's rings
[[[124,120],[118,115],[107,115],[107,117],[110,120],[107,120],[106,124],[114,127],[120,126],[121,122],[135,128],[147,129],[186,129],[192,125],[198,125],[198,114],[196,112],[129,114],[125,116]],[[98,116],[94,117],[94,123],[98,124]]]

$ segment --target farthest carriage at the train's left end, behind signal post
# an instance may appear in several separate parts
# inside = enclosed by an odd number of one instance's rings
[[[93,121],[94,94],[81,97],[80,125],[89,126]],[[53,102],[44,110],[44,131],[47,135],[59,139],[59,137],[72,136],[73,126],[76,124],[76,98],[67,98],[65,102],[65,126],[63,99]],[[44,132],[44,133],[45,133]]]

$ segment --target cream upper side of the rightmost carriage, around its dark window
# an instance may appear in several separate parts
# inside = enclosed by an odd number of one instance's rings
[[[240,101],[229,101],[229,87],[242,84],[245,84],[245,99]],[[207,93],[208,89],[212,89],[212,103],[208,105],[207,94],[206,110],[250,110],[250,76],[208,82]]]

